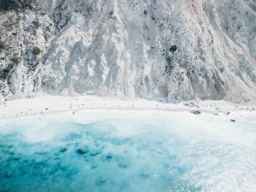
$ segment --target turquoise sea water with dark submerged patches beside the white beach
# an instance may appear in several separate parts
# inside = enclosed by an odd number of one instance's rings
[[[153,115],[2,124],[0,191],[255,191],[256,119]]]

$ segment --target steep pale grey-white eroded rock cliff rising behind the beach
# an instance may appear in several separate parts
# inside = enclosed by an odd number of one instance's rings
[[[256,102],[255,0],[29,2],[0,12],[2,102],[37,94]]]

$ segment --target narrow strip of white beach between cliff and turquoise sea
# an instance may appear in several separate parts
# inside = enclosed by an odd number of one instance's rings
[[[0,106],[0,119],[16,119],[20,117],[51,116],[90,112],[98,110],[152,110],[155,112],[191,112],[201,110],[202,113],[214,113],[213,116],[226,115],[230,118],[256,116],[256,107],[238,106],[226,101],[185,101],[180,103],[148,101],[136,99],[134,101],[118,98],[101,98],[98,96],[79,96],[76,98],[64,96],[43,96],[32,99],[16,99]],[[230,113],[227,115],[227,113]],[[74,113],[74,114],[73,114]],[[217,115],[218,114],[218,115]],[[200,115],[197,115],[200,116]]]

